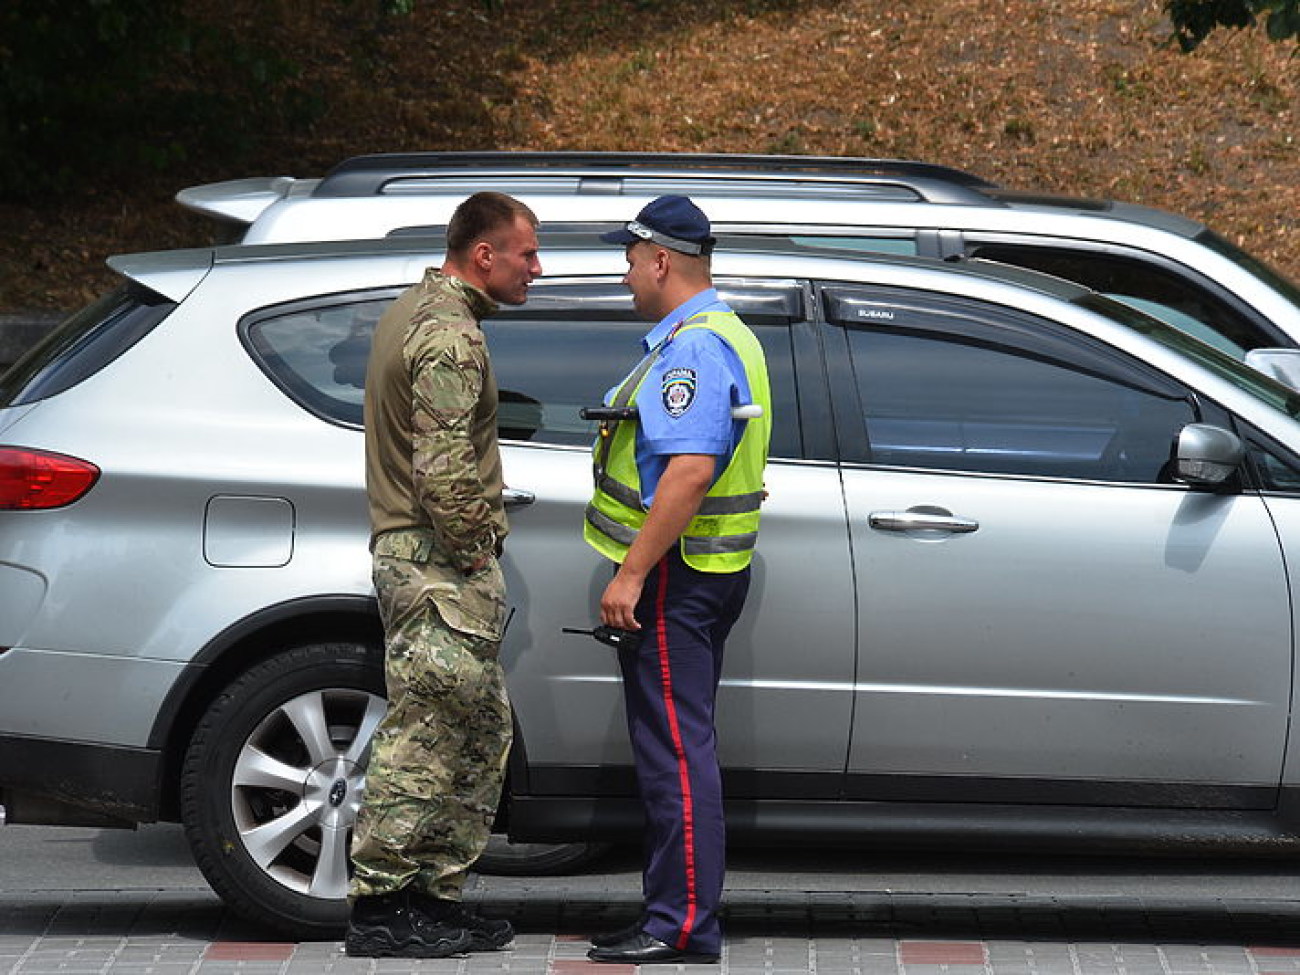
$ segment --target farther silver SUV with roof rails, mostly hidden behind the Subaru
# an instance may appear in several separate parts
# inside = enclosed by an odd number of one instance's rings
[[[1118,202],[1004,190],[924,162],[815,156],[407,153],[324,178],[183,190],[246,243],[343,240],[442,228],[468,192],[506,188],[550,228],[606,229],[664,192],[698,199],[724,239],[1041,270],[1124,300],[1242,359],[1300,346],[1300,289],[1205,226]]]

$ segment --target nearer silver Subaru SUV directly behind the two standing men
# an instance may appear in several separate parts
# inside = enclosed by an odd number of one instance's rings
[[[334,933],[384,708],[361,377],[436,238],[117,257],[0,377],[0,805],[183,822],[213,888]],[[630,838],[618,670],[562,633],[595,403],[646,329],[543,235],[485,324],[516,748],[495,864]],[[1296,394],[1130,306],[972,260],[737,238],[772,463],[719,698],[737,842],[1295,842]],[[1300,744],[1300,742],[1297,742]]]

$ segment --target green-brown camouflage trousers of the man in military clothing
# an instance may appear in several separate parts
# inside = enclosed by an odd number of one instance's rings
[[[425,569],[443,598],[429,597]],[[445,580],[432,566],[374,559],[389,710],[352,836],[352,898],[411,887],[460,900],[500,801],[511,742],[500,644],[446,624]]]

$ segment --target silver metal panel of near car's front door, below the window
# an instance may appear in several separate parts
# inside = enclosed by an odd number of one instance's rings
[[[1258,498],[885,471],[845,484],[861,578],[850,771],[1278,783],[1291,606]],[[868,524],[918,507],[979,528]]]

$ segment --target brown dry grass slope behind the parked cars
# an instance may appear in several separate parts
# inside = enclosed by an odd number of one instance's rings
[[[325,94],[315,130],[268,142],[255,170],[212,159],[131,192],[0,208],[0,311],[81,303],[113,252],[205,243],[170,203],[182,185],[417,148],[924,159],[1186,213],[1300,276],[1300,58],[1228,32],[1183,56],[1158,0],[490,8],[424,3],[359,38],[342,5],[281,0],[263,29]]]

